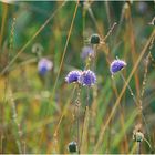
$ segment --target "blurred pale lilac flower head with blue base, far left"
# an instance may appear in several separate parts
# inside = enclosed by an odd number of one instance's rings
[[[43,58],[38,63],[38,71],[41,75],[44,75],[48,71],[52,70],[53,62]]]

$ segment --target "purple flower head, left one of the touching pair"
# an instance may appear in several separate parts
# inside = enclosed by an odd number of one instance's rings
[[[78,82],[80,75],[81,75],[81,71],[71,71],[71,72],[66,75],[65,81],[66,81],[68,83]]]

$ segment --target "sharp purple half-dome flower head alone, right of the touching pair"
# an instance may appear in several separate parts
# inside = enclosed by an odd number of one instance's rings
[[[115,74],[116,72],[121,71],[124,66],[126,66],[126,62],[117,59],[111,63],[110,71],[112,74]]]

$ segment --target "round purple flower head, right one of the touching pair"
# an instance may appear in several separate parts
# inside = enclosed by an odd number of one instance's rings
[[[82,85],[92,86],[95,84],[95,73],[90,70],[83,71],[81,76],[79,78],[79,83],[81,83]]]

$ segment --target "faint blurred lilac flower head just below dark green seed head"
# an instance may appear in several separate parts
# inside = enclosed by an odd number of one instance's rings
[[[89,56],[94,58],[94,50],[91,46],[84,46],[82,49],[81,58],[85,60]]]

